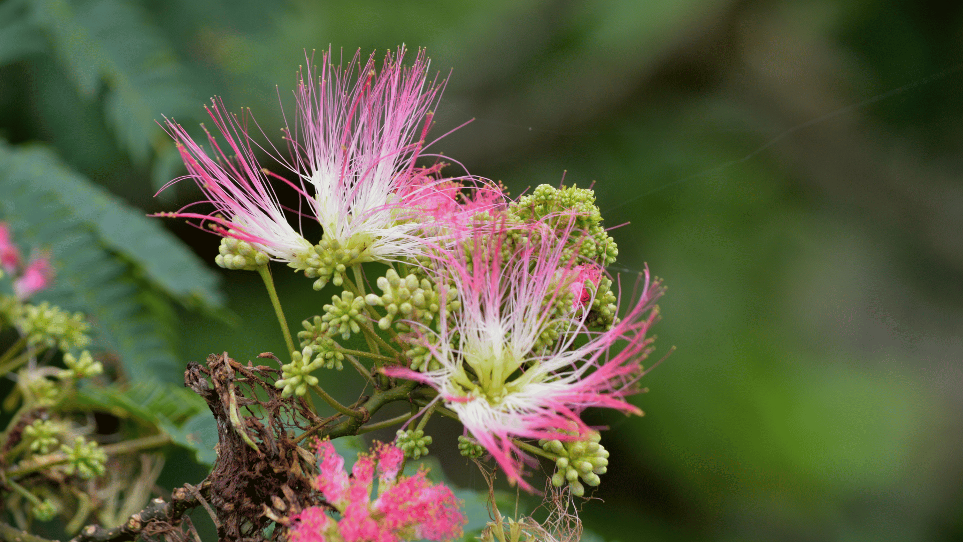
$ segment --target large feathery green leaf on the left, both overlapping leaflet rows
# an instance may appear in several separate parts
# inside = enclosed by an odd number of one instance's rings
[[[58,278],[38,299],[85,312],[130,378],[178,380],[169,297],[222,303],[217,276],[193,254],[39,146],[0,147],[0,220],[21,243],[51,252]]]

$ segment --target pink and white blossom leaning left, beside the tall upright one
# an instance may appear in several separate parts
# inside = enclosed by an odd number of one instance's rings
[[[207,199],[177,212],[154,216],[199,219],[201,226],[207,226],[222,237],[246,242],[275,260],[303,260],[313,254],[311,243],[288,223],[268,179],[270,174],[262,170],[254,158],[245,127],[237,118],[223,113],[223,108],[220,99],[212,100],[211,107],[205,107],[226,148],[222,148],[205,127],[210,146],[210,151],[206,151],[195,143],[183,126],[167,121],[168,133],[177,142],[189,173],[167,186],[184,178],[193,178]],[[300,190],[293,183],[289,184]],[[187,211],[201,203],[214,205],[214,211],[209,214]],[[231,247],[236,245],[235,242]]]

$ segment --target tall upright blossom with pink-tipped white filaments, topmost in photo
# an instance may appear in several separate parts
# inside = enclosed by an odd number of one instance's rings
[[[337,266],[419,254],[421,207],[448,182],[436,178],[441,164],[415,166],[443,83],[429,80],[424,51],[407,68],[404,54],[389,52],[377,71],[374,53],[336,67],[327,51],[320,71],[307,69],[299,82],[292,169],[313,191],[324,229],[316,248],[323,263],[306,273],[321,277],[319,287],[343,272]]]

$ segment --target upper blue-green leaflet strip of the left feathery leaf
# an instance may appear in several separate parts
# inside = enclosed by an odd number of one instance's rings
[[[48,194],[91,227],[104,246],[132,263],[143,279],[188,308],[223,310],[220,276],[161,223],[69,169],[48,149],[0,147],[10,160],[7,182]]]

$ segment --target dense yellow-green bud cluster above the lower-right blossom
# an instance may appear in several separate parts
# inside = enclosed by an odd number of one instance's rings
[[[562,255],[566,260],[576,256],[596,261],[603,266],[609,265],[618,257],[615,240],[602,226],[602,212],[595,204],[595,192],[576,185],[556,188],[550,184],[540,184],[532,194],[523,196],[517,203],[511,203],[510,212],[522,221],[543,220],[556,223],[559,229],[567,227],[575,220],[573,233],[568,239],[568,251]],[[571,211],[570,217],[566,211]]]

